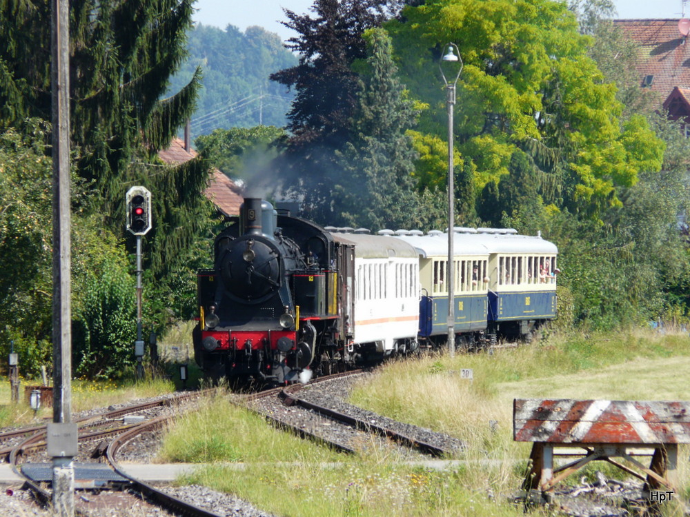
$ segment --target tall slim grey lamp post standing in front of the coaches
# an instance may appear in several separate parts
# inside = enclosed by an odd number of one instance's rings
[[[455,356],[455,267],[453,267],[453,239],[455,237],[455,207],[453,187],[453,106],[455,105],[455,84],[462,72],[462,59],[455,43],[448,43],[443,48],[444,56],[439,62],[441,77],[446,84],[446,108],[448,110],[448,264],[446,281],[448,283],[448,352]],[[443,63],[459,63],[455,79],[449,81],[443,72]]]

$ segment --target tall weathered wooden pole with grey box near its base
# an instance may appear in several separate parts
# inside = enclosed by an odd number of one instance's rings
[[[76,425],[72,420],[72,298],[70,292],[70,34],[69,0],[51,1],[52,79],[52,345],[53,425],[48,429],[52,456],[55,515],[75,514]],[[57,440],[53,438],[57,436]],[[59,442],[58,447],[55,443]],[[55,450],[59,449],[58,453]]]

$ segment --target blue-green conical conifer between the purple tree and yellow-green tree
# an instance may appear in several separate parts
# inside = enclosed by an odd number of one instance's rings
[[[391,40],[381,29],[366,33],[369,57],[362,65],[354,137],[337,152],[344,174],[333,178],[337,225],[384,227],[420,225],[413,171],[415,152],[406,130],[415,110],[404,97],[391,59]]]

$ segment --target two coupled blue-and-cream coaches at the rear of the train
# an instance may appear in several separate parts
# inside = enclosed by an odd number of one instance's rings
[[[453,236],[457,344],[529,336],[555,318],[553,243],[510,228],[456,227]],[[448,335],[448,234],[399,230],[395,238],[411,244],[420,257],[420,343],[440,344]]]

